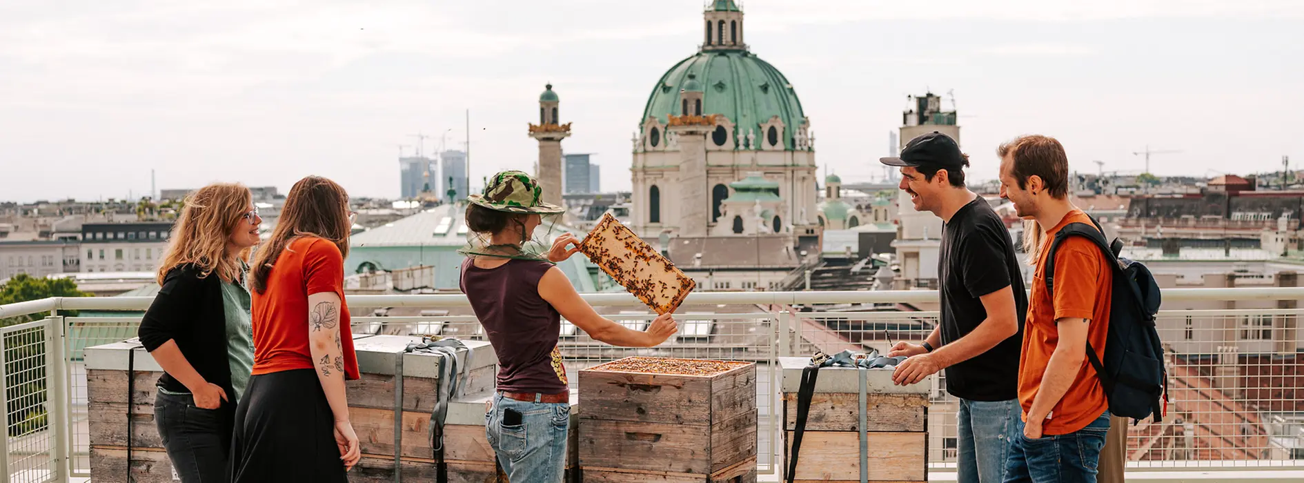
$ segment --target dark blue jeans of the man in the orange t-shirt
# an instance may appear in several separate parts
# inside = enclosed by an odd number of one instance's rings
[[[1009,452],[1005,483],[1095,483],[1101,448],[1110,432],[1110,411],[1067,435],[1030,440],[1022,435],[1022,424],[1018,432]]]

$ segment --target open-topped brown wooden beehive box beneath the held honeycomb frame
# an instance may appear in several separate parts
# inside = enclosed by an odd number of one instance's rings
[[[756,364],[625,358],[579,371],[585,482],[756,480]]]

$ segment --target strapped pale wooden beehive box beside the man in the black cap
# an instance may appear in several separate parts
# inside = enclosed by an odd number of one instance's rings
[[[797,428],[797,392],[810,358],[778,358],[784,393],[784,460],[788,471]],[[819,369],[815,394],[806,418],[806,432],[795,482],[859,483],[861,422],[859,369]],[[870,482],[925,482],[928,478],[928,376],[919,384],[892,384],[892,369],[866,369],[866,437]]]

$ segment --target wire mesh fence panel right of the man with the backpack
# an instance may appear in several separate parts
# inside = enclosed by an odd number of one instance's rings
[[[1167,415],[1128,428],[1128,460],[1134,466],[1304,460],[1300,311],[1257,308],[1275,302],[1239,304],[1249,307],[1159,313]]]

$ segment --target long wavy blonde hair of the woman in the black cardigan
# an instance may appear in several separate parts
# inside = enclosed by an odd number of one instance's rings
[[[194,265],[200,277],[214,272],[224,281],[239,279],[249,261],[249,248],[227,256],[227,240],[236,223],[244,223],[253,195],[239,183],[214,183],[185,197],[185,208],[172,227],[172,239],[159,264],[158,282],[181,265]]]

